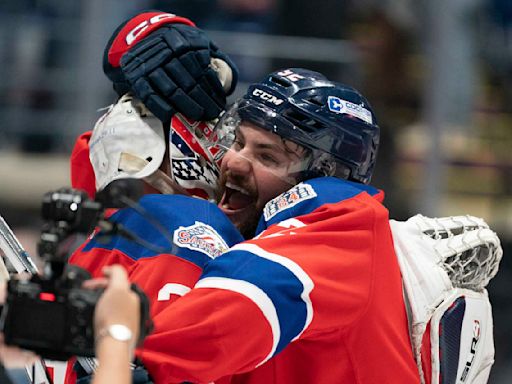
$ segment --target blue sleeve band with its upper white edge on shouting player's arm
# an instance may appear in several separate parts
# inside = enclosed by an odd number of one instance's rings
[[[206,278],[244,281],[268,296],[272,303],[270,309],[248,297],[267,318],[272,317],[271,311],[275,310],[277,314],[280,332],[279,340],[275,340],[275,353],[299,337],[311,323],[313,308],[309,294],[314,287],[313,281],[299,265],[286,257],[254,244],[238,244],[208,264],[201,280]],[[225,289],[236,290],[232,286]]]

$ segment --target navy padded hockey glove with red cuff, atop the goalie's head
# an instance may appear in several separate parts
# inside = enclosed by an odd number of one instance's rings
[[[119,95],[131,91],[161,121],[176,112],[194,120],[217,117],[238,75],[204,31],[162,12],[142,13],[120,26],[103,68]]]

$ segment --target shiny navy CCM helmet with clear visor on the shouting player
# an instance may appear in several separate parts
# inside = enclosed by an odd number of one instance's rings
[[[370,181],[380,130],[368,101],[352,87],[306,69],[276,71],[251,85],[221,116],[219,135],[233,138],[242,121],[309,149],[301,179]]]

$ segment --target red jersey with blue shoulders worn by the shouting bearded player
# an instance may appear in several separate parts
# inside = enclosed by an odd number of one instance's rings
[[[154,317],[155,383],[417,383],[382,193],[310,180]]]

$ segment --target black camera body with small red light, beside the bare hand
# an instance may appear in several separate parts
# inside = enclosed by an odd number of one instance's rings
[[[94,308],[102,291],[80,288],[84,272],[71,266],[57,280],[10,280],[1,319],[5,342],[51,360],[94,356]]]

